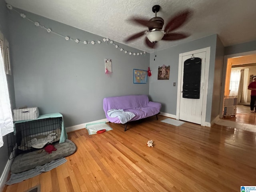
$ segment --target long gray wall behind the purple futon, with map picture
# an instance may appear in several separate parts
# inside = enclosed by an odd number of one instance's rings
[[[103,39],[32,13],[24,13],[41,25],[73,39]],[[102,103],[104,97],[149,93],[149,83],[133,84],[133,69],[147,70],[149,54],[130,56],[109,42],[76,44],[49,34],[16,12],[11,11],[8,15],[17,107],[38,106],[40,114],[60,112],[67,127],[106,118]],[[118,46],[129,52],[141,52],[123,44]],[[112,74],[105,74],[104,58],[112,59]]]

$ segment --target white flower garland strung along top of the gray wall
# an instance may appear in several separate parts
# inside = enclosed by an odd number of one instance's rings
[[[64,36],[64,35],[62,35],[62,34],[56,33],[56,32],[54,32],[54,31],[52,31],[50,28],[46,28],[45,26],[40,25],[39,22],[35,22],[35,21],[31,20],[30,18],[27,18],[24,13],[18,12],[18,11],[17,11],[16,9],[14,9],[14,8],[12,7],[12,5],[10,5],[10,4],[6,4],[6,7],[7,7],[9,10],[14,10],[14,11],[17,12],[18,14],[20,14],[20,16],[21,16],[22,18],[24,18],[24,19],[26,19],[26,20],[28,20],[28,21],[34,23],[35,26],[45,29],[49,34],[50,34],[50,33],[53,33],[53,34],[56,34],[56,35],[58,35],[58,36],[61,36],[61,37],[63,37],[66,41],[70,41],[70,40],[71,40],[71,41],[74,41],[74,42],[76,42],[76,43],[92,44],[92,45],[97,44],[97,43],[100,44],[100,43],[102,43],[102,42],[106,42],[106,43],[108,44],[108,42],[109,42],[111,45],[115,46],[115,47],[116,47],[117,49],[119,49],[121,52],[124,52],[124,53],[129,54],[129,55],[138,56],[138,55],[142,55],[142,54],[145,55],[145,54],[146,54],[145,51],[144,51],[143,53],[142,53],[142,52],[137,52],[137,53],[135,53],[135,52],[128,52],[128,51],[124,50],[123,48],[120,48],[118,45],[114,44],[114,42],[113,42],[112,40],[108,39],[108,38],[103,38],[102,40],[97,40],[97,41],[83,41],[83,40],[79,40],[79,39],[72,39],[72,38],[70,38],[70,36]]]

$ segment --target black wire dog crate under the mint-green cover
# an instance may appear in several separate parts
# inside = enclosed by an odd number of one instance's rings
[[[9,159],[59,142],[61,129],[62,117],[16,122],[7,135]]]

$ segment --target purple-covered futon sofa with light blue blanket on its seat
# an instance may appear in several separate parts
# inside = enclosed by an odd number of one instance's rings
[[[126,124],[126,131],[127,122],[154,115],[158,119],[161,104],[149,101],[147,95],[128,95],[104,98],[103,109],[110,122]]]

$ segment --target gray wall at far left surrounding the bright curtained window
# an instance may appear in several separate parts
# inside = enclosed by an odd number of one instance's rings
[[[4,0],[0,0],[0,31],[4,34],[4,37],[7,38],[7,40],[10,40],[8,36],[9,30],[8,30],[8,24],[7,24],[7,9],[6,9],[6,3],[4,2]],[[12,58],[10,58],[10,64],[12,66]],[[11,108],[15,108],[13,76],[6,75],[6,78],[8,83]],[[0,148],[0,177],[6,166],[6,163],[8,162],[7,137],[4,136],[3,140],[4,140],[4,146]]]

